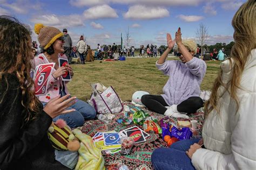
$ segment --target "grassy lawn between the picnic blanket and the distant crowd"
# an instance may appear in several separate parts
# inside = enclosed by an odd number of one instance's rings
[[[169,58],[168,60],[175,59]],[[75,76],[68,83],[72,96],[86,101],[91,95],[91,83],[101,82],[112,86],[123,100],[131,100],[135,91],[148,91],[150,94],[162,94],[168,80],[156,68],[156,58],[126,58],[126,61],[94,61],[85,65],[71,65]],[[219,72],[219,61],[208,61],[207,72],[201,83],[201,90],[211,90],[213,81]]]

